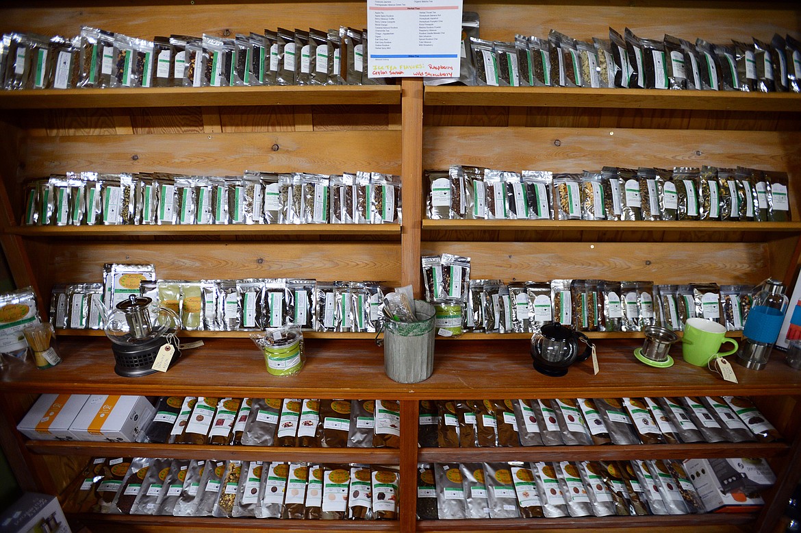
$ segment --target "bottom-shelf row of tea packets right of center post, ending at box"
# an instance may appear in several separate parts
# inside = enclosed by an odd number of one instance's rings
[[[751,468],[753,477],[765,481],[755,483],[755,491],[747,493],[747,497],[743,495],[739,505],[761,505],[764,502],[758,491],[775,483],[775,474],[764,459],[421,464],[417,468],[417,519],[552,519],[712,512],[726,506],[718,505],[716,494],[708,490],[708,485],[725,479],[728,471],[739,472],[732,465],[743,462]]]

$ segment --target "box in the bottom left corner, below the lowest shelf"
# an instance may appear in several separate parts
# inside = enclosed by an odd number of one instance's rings
[[[55,496],[26,492],[0,516],[2,533],[71,533]]]

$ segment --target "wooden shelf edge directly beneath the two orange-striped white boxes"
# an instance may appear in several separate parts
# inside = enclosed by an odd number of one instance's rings
[[[243,461],[364,462],[396,465],[400,451],[391,448],[295,448],[278,446],[195,446],[141,442],[26,442],[28,450],[45,455],[91,457],[168,457],[173,459],[241,459]]]

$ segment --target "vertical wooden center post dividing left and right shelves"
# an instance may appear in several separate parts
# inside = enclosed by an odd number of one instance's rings
[[[400,92],[400,285],[421,297],[420,240],[423,216],[423,80],[404,79]],[[417,520],[417,400],[400,402],[400,531],[412,533]]]

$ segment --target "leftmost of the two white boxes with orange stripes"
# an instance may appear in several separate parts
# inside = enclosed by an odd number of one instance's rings
[[[89,394],[42,394],[28,410],[17,430],[39,441],[72,441],[70,426]]]

